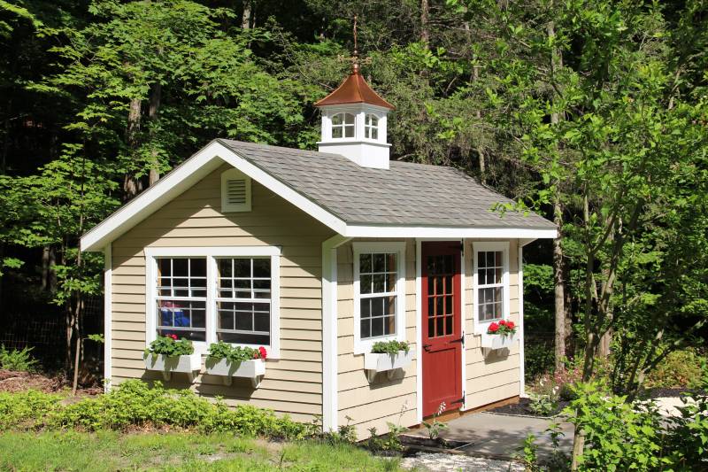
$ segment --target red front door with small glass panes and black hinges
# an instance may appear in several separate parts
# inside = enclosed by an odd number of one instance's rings
[[[461,406],[461,245],[427,242],[421,247],[423,309],[423,416]]]

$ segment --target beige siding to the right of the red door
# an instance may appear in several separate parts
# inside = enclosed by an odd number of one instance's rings
[[[491,240],[486,240],[491,241]],[[499,240],[496,240],[499,241]],[[519,395],[519,344],[485,357],[481,337],[474,333],[473,241],[465,241],[466,408],[476,408]],[[509,301],[511,319],[519,323],[518,241],[509,241]]]

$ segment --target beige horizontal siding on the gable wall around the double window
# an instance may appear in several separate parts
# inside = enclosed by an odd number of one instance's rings
[[[266,362],[257,390],[247,380],[225,386],[219,376],[199,375],[191,388],[227,403],[249,402],[310,421],[322,414],[321,244],[332,230],[252,183],[252,210],[220,213],[220,174],[197,182],[112,244],[112,384],[128,378],[161,379],[146,371],[144,247],[280,246],[281,359]],[[173,375],[172,387],[189,386]]]

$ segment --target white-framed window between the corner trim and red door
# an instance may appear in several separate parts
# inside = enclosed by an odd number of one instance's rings
[[[354,243],[355,352],[405,338],[404,243]]]

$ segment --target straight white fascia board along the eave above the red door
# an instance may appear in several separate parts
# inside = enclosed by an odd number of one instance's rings
[[[344,236],[348,237],[415,237],[420,239],[442,238],[511,238],[553,239],[556,229],[534,228],[441,228],[426,226],[369,226],[347,225]]]

